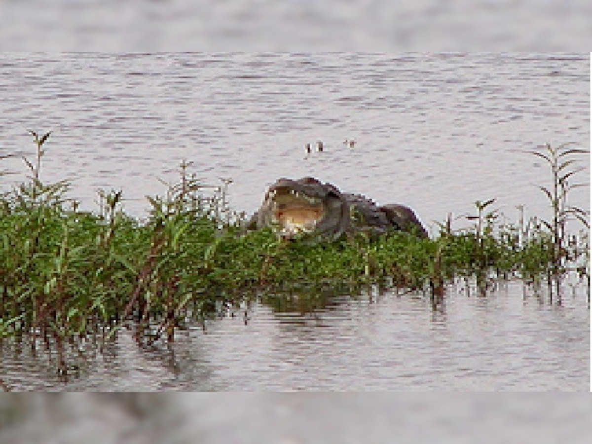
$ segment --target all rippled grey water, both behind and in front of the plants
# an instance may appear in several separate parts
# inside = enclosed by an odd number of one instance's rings
[[[489,198],[510,221],[517,205],[546,218],[550,173],[524,151],[590,146],[589,79],[587,54],[3,54],[0,155],[17,156],[1,185],[25,177],[27,130],[53,130],[41,177],[70,179],[91,210],[114,188],[146,214],[144,195],[188,159],[206,184],[233,179],[246,213],[280,176],[310,175],[410,205],[432,233]],[[589,188],[571,203],[588,210]],[[228,314],[172,350],[123,333],[68,382],[7,349],[2,373],[21,390],[587,390],[590,312],[583,288],[566,292],[556,305],[517,283],[485,298],[451,287],[440,311],[419,295],[255,303],[246,325]]]

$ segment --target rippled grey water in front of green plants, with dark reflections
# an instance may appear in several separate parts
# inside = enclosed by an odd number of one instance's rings
[[[6,348],[2,366],[15,390],[587,390],[583,291],[562,305],[522,291],[451,287],[436,311],[420,294],[295,293],[225,311],[169,348],[122,332],[69,381],[44,353]]]

